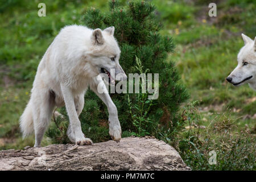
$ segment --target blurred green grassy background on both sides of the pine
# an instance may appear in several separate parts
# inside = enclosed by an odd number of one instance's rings
[[[38,16],[40,2],[46,3],[46,17]],[[237,88],[225,81],[236,67],[237,53],[243,46],[241,33],[255,37],[255,1],[150,2],[156,6],[155,13],[163,26],[160,33],[174,38],[175,52],[169,56],[176,62],[191,94],[189,103],[199,101],[193,105],[199,119],[196,125],[187,122],[184,133],[198,126],[206,133],[210,125],[217,129],[232,126],[233,134],[246,129],[255,138],[255,92],[248,85]],[[217,17],[208,16],[210,2],[217,4]],[[30,97],[36,68],[60,28],[82,24],[82,15],[89,7],[107,11],[108,3],[105,0],[0,2],[0,149],[33,146],[34,137],[22,140],[18,119]],[[207,134],[212,138],[220,135]],[[47,144],[51,140],[44,137],[42,145]],[[251,145],[255,146],[255,142]],[[185,161],[189,159],[192,160]]]

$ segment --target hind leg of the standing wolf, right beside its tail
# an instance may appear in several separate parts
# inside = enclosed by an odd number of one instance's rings
[[[33,97],[33,121],[35,130],[35,146],[41,144],[43,135],[51,121],[52,112],[54,109],[54,96],[49,90],[41,89],[40,92],[32,94]]]

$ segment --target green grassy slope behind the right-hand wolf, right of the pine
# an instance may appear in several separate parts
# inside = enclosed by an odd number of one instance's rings
[[[248,85],[234,87],[225,78],[237,65],[237,53],[243,46],[241,33],[255,37],[255,3],[220,1],[217,17],[209,17],[208,3],[204,1],[153,2],[158,2],[156,6],[164,19],[163,34],[174,36],[176,52],[170,56],[192,100],[199,100],[203,110],[231,110],[235,117],[242,117],[238,125],[246,123],[252,128],[255,92]],[[243,119],[245,115],[249,119]]]

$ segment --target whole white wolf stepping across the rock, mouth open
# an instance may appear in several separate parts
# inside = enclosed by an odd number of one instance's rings
[[[122,75],[119,75],[119,79],[127,79],[119,65],[120,53],[114,38],[114,27],[103,31],[76,25],[64,27],[38,66],[30,101],[20,117],[23,138],[34,132],[35,147],[40,146],[54,107],[65,105],[69,116],[68,138],[76,144],[92,144],[92,140],[85,138],[82,133],[79,121],[79,114],[84,107],[84,94],[90,87],[108,107],[109,134],[119,142],[121,126],[117,107],[108,93],[98,92],[97,86],[104,85],[100,73],[108,74],[112,82],[117,78],[110,75],[110,69]]]

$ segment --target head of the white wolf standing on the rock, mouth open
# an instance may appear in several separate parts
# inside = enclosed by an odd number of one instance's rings
[[[126,80],[127,76],[119,64],[120,49],[114,38],[114,27],[108,27],[105,30],[99,28],[92,31],[90,50],[90,62],[97,72],[108,75],[108,80],[112,84],[115,80]]]

